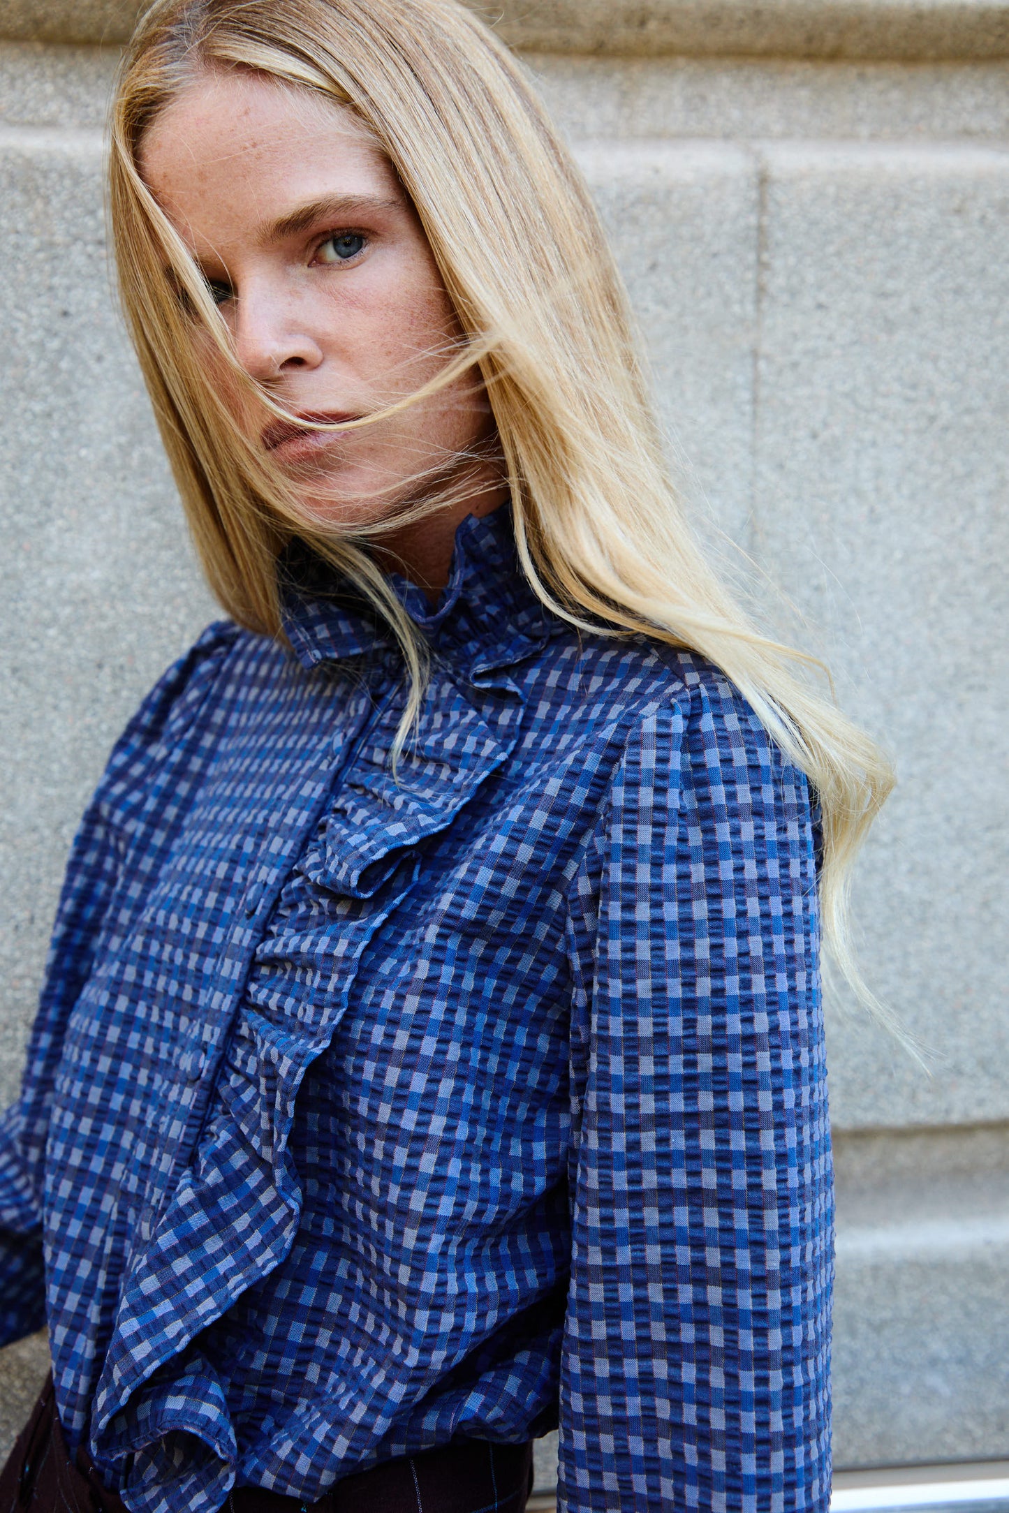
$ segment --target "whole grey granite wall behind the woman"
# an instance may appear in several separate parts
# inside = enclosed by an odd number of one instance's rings
[[[76,819],[215,613],[106,263],[135,9],[0,0],[5,1101]],[[933,1061],[834,1011],[837,1462],[1009,1456],[1009,5],[501,12],[598,194],[684,486],[900,769],[856,903]],[[0,1431],[41,1360],[0,1357]]]

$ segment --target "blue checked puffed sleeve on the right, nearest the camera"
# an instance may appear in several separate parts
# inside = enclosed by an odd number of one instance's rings
[[[805,778],[703,675],[570,900],[566,1513],[829,1502],[832,1177]]]

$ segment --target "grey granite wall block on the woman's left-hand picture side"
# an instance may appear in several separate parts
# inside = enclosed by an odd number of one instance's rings
[[[67,847],[138,699],[212,607],[113,313],[100,138],[0,135],[0,1103]]]

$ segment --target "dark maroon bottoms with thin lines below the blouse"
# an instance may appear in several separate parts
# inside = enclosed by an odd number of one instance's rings
[[[318,1502],[239,1487],[225,1513],[523,1513],[532,1490],[532,1445],[463,1439],[345,1477]],[[94,1466],[67,1452],[51,1378],[0,1471],[0,1513],[127,1513]]]

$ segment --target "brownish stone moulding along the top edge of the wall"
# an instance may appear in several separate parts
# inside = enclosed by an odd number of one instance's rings
[[[472,0],[513,47],[793,57],[1009,54],[1006,0]],[[142,0],[0,0],[0,35],[129,36]]]

